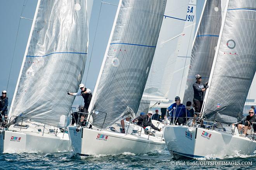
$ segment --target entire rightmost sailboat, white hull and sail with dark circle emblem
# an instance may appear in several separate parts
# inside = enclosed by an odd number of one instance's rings
[[[163,129],[168,150],[175,158],[252,155],[256,149],[254,136],[239,136],[232,125],[242,115],[256,71],[255,3],[228,0],[224,11],[204,99],[204,126],[199,123]]]

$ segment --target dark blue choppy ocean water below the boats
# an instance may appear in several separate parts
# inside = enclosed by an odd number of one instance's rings
[[[255,152],[254,152],[255,153]],[[256,169],[256,153],[251,156],[236,155],[224,159],[175,160],[165,148],[161,151],[135,155],[78,156],[65,153],[1,154],[0,169]]]

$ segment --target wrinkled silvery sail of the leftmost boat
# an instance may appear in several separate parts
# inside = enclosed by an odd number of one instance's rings
[[[87,47],[85,0],[39,0],[9,116],[66,126]]]

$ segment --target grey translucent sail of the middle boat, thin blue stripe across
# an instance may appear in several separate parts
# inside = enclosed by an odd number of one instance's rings
[[[104,129],[121,117],[135,116],[149,75],[165,6],[166,0],[120,0],[89,107],[94,126]],[[97,114],[93,110],[100,112]]]

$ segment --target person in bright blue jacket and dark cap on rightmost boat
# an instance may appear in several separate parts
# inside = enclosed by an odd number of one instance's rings
[[[181,125],[185,122],[183,118],[186,117],[186,106],[180,103],[180,97],[176,96],[174,100],[175,103],[171,104],[166,110],[171,112],[171,123],[176,124],[177,122]]]

